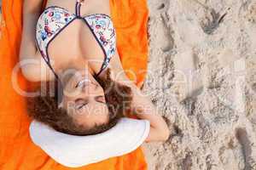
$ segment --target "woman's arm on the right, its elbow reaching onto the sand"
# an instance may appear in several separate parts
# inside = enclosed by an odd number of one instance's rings
[[[115,75],[113,79],[119,83],[129,86],[132,90],[133,99],[131,102],[131,111],[137,118],[146,119],[150,122],[150,132],[147,142],[149,141],[166,141],[169,138],[170,130],[160,112],[157,111],[150,99],[143,95],[142,91],[126,77],[119,60],[119,54],[113,56],[111,68]]]

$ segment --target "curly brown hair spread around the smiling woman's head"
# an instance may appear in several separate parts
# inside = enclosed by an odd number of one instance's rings
[[[39,95],[35,98],[27,98],[28,115],[39,122],[44,122],[61,133],[84,136],[105,132],[113,127],[119,121],[119,118],[125,116],[127,112],[130,112],[132,99],[131,88],[119,82],[114,82],[110,78],[109,69],[106,77],[96,77],[96,81],[100,83],[104,90],[108,111],[110,113],[108,123],[96,125],[92,128],[79,125],[74,121],[72,116],[67,114],[66,110],[58,107],[59,95],[50,94],[50,82],[46,83],[45,91],[40,88],[41,94],[44,95]],[[55,92],[58,92],[57,81],[55,81]]]

